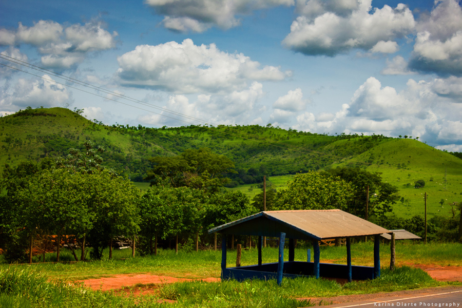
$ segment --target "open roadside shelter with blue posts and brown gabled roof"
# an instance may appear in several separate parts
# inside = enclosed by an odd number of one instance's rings
[[[282,277],[314,276],[344,278],[348,281],[373,279],[380,276],[380,235],[390,233],[367,220],[339,209],[329,210],[279,210],[262,211],[213,229],[208,233],[222,234],[221,278],[243,280],[248,278],[277,279]],[[226,268],[227,235],[258,236],[258,264]],[[262,264],[263,237],[279,238],[279,260]],[[350,239],[374,237],[374,267],[351,264]],[[288,261],[284,262],[284,242],[289,239]],[[347,265],[320,263],[319,241],[324,239],[347,239]],[[295,261],[295,239],[311,241],[314,261]]]

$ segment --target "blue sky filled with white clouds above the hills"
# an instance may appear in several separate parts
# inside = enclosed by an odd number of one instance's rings
[[[2,115],[65,106],[105,124],[271,123],[462,151],[455,0],[3,0],[0,52]]]

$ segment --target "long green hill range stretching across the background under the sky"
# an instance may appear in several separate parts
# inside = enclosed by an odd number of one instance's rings
[[[65,156],[70,147],[82,148],[89,139],[106,148],[105,165],[134,181],[142,181],[149,157],[208,147],[235,162],[238,174],[232,177],[236,185],[261,182],[263,175],[277,182],[278,176],[310,169],[359,166],[382,172],[385,181],[400,188],[404,199],[395,206],[399,216],[423,214],[424,192],[430,215],[447,215],[453,202],[462,201],[462,160],[411,139],[326,136],[271,125],[107,126],[65,108],[26,109],[0,118],[0,128],[0,172],[5,164]],[[424,180],[425,187],[414,188],[417,180]]]

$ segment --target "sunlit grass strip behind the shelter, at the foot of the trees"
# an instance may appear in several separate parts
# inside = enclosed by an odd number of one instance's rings
[[[390,262],[389,246],[380,246],[381,264],[387,267]],[[360,242],[352,244],[353,265],[373,266],[373,243]],[[71,254],[63,251],[61,258],[73,260]],[[227,267],[236,263],[235,251],[228,251]],[[398,242],[396,244],[396,264],[437,264],[462,266],[462,244],[412,244],[409,242]],[[52,259],[49,254],[47,260]],[[155,275],[171,276],[178,278],[208,278],[220,277],[221,251],[206,250],[198,253],[185,253],[170,249],[159,249],[158,256],[146,256],[131,258],[131,249],[113,251],[113,259],[108,260],[108,251],[103,254],[103,260],[76,263],[34,263],[33,268],[46,273],[51,279],[83,280],[98,278],[107,275],[151,273]],[[288,250],[284,252],[287,258]],[[321,262],[346,264],[347,251],[345,247],[321,246]],[[257,249],[252,248],[242,251],[241,265],[255,264],[258,258]],[[266,247],[262,251],[263,263],[276,262],[278,250]],[[295,250],[295,260],[306,260],[306,248],[298,247]],[[0,268],[9,265],[0,265]],[[30,265],[13,265],[17,267],[30,267]]]

